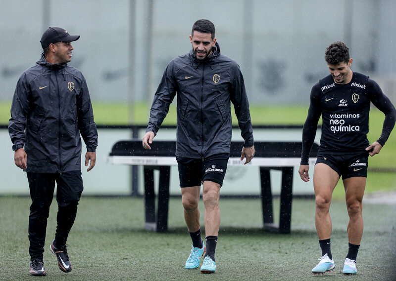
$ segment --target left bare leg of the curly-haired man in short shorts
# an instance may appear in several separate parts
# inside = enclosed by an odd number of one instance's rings
[[[334,188],[340,179],[339,174],[324,163],[317,163],[313,175],[315,191],[315,226],[319,240],[329,239],[332,231],[330,203]]]

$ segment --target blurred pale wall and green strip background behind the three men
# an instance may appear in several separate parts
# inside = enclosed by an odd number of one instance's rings
[[[0,194],[28,192],[25,174],[13,163],[6,125],[16,82],[39,60],[40,39],[49,26],[81,36],[72,43],[70,65],[86,77],[97,124],[145,125],[165,67],[190,51],[193,23],[209,19],[221,53],[237,61],[244,74],[253,125],[297,125],[257,129],[255,140],[300,141],[310,89],[328,74],[324,51],[336,40],[349,46],[352,71],[376,80],[396,104],[395,11],[394,0],[1,0]],[[383,114],[373,109],[370,142],[380,136],[382,121]],[[176,123],[172,108],[164,123]],[[85,194],[130,194],[130,167],[107,164],[106,158],[112,144],[131,137],[129,129],[99,129],[97,167],[83,173]],[[174,130],[160,131],[160,138],[174,139]],[[241,140],[238,130],[233,138]],[[320,130],[316,142],[319,138]],[[376,181],[380,189],[396,188],[395,144],[394,132],[384,153],[370,159],[371,172],[386,177]],[[246,194],[259,192],[251,168],[235,186],[253,178]],[[173,192],[180,193],[177,174],[171,178]],[[297,180],[296,193],[312,194],[310,185]],[[230,185],[235,181],[229,179]]]

